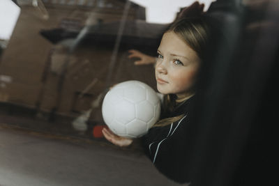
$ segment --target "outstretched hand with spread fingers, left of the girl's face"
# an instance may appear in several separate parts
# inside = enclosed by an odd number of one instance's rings
[[[128,51],[130,55],[128,56],[128,59],[131,58],[139,58],[139,61],[135,61],[135,65],[149,65],[156,63],[156,57],[149,56],[146,54],[143,54],[142,52],[136,50],[136,49],[130,49]]]

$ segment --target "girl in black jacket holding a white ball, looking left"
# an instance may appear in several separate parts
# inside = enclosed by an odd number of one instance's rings
[[[165,95],[158,123],[141,137],[143,147],[156,168],[168,178],[190,181],[191,162],[186,127],[190,125],[190,103],[195,95],[197,72],[203,63],[209,29],[202,17],[183,18],[164,33],[158,47],[156,81]],[[129,146],[133,139],[103,129],[105,138],[117,146]]]

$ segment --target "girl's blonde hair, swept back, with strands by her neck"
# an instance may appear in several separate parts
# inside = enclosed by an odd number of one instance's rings
[[[200,17],[188,17],[181,18],[172,23],[166,32],[174,32],[177,36],[179,36],[186,44],[193,49],[199,59],[204,61],[205,48],[207,44],[207,40],[209,37],[209,29],[206,25],[202,16]],[[172,95],[166,95],[164,104],[163,104],[163,112],[173,111],[176,100]],[[184,114],[179,116],[174,116],[171,118],[163,118],[153,125],[153,127],[163,127],[166,125],[170,125],[176,121],[181,120]]]

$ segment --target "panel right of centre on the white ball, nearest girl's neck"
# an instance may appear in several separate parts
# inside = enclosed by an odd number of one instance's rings
[[[137,103],[135,105],[135,109],[136,109],[136,118],[146,123],[149,122],[151,118],[153,118],[154,116],[153,105],[147,101]]]

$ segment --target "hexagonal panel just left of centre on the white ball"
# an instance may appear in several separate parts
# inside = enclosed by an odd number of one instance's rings
[[[126,124],[135,119],[135,104],[122,100],[118,104],[114,104],[114,112],[114,121]]]

